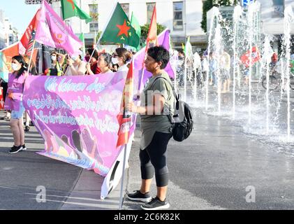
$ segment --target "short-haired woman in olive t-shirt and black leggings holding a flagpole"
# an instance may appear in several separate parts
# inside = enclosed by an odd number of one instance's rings
[[[171,108],[175,104],[175,97],[168,73],[163,70],[169,59],[170,54],[165,48],[161,46],[149,48],[145,67],[153,76],[141,94],[141,106],[135,106],[133,102],[126,105],[127,111],[140,114],[142,131],[140,142],[141,188],[135,193],[128,194],[127,197],[133,201],[148,202],[141,206],[145,210],[170,207],[166,201],[168,189],[166,156],[168,141],[172,137],[170,116],[173,115]],[[154,169],[157,195],[152,199],[149,190]]]

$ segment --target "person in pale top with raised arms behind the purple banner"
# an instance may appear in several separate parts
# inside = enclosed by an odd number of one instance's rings
[[[70,57],[67,55],[67,68],[66,72],[64,73],[65,76],[84,76],[87,68],[86,62],[82,61],[81,55],[73,55]]]

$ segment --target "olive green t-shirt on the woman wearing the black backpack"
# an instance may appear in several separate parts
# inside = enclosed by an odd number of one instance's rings
[[[158,78],[159,76],[163,78]],[[173,106],[175,103],[175,97],[172,92],[171,83],[172,82],[168,76],[168,73],[161,73],[157,76],[152,76],[152,78],[149,79],[149,83],[147,83],[146,87],[142,91],[140,97],[140,106],[152,106],[154,94],[161,94],[166,102],[163,106],[163,111],[161,111],[161,114],[154,115],[152,114],[152,111],[150,111],[150,114],[140,115],[142,132],[140,141],[141,150],[144,150],[147,148],[147,146],[149,146],[155,132],[172,132],[172,124],[168,118],[168,115],[173,116]]]

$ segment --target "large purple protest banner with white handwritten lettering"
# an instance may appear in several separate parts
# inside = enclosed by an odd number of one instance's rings
[[[126,72],[95,76],[30,76],[24,107],[45,139],[39,153],[105,176],[117,159]]]

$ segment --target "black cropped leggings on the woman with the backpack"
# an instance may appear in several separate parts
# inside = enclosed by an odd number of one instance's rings
[[[168,167],[166,165],[168,141],[172,134],[155,132],[153,139],[145,150],[140,150],[141,177],[143,180],[154,176],[157,187],[168,186]],[[153,167],[154,169],[153,169]]]

